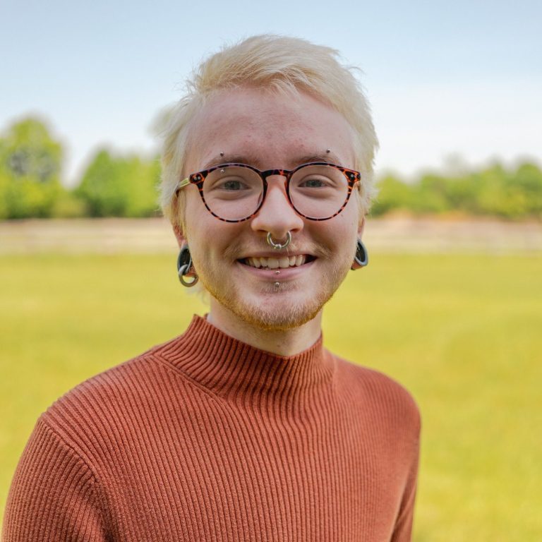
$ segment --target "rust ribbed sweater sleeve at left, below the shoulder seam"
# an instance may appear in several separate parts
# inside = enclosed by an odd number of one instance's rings
[[[104,542],[95,476],[43,418],[17,466],[3,542]]]

